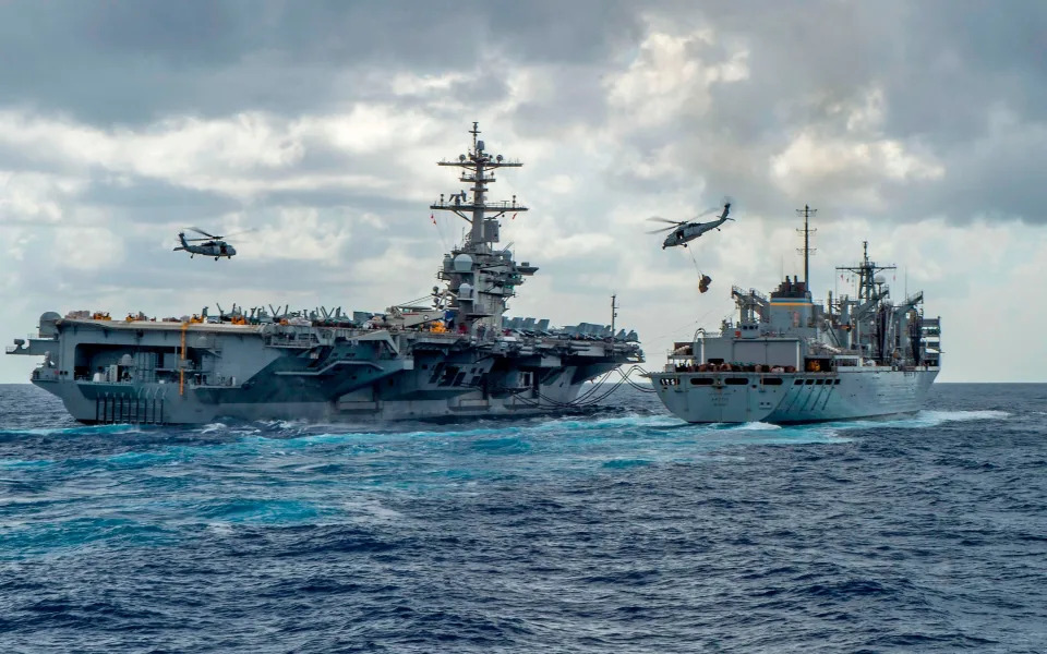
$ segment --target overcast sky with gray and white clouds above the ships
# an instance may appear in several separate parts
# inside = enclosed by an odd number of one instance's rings
[[[810,204],[816,296],[868,240],[941,315],[941,380],[1047,380],[1040,1],[7,2],[0,61],[7,342],[45,311],[424,295],[464,226],[430,220],[461,186],[435,162],[476,120],[525,162],[492,186],[540,267],[509,315],[607,323],[616,292],[660,367],[732,284],[802,272]],[[643,233],[724,196],[689,251]],[[189,225],[257,231],[190,259]]]

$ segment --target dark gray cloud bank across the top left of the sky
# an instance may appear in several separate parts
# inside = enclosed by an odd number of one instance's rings
[[[0,5],[0,87],[10,104],[95,124],[296,114],[366,98],[369,77],[393,70],[592,61],[638,32],[628,4],[595,1],[9,3]]]

